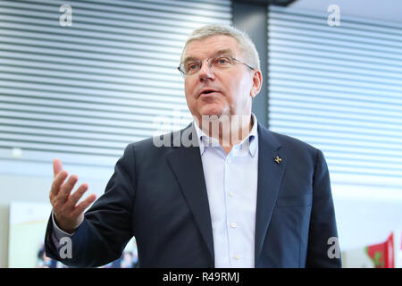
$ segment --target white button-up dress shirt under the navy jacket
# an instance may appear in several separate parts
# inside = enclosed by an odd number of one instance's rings
[[[204,169],[214,237],[215,267],[255,267],[255,208],[258,175],[257,121],[226,155],[194,122]]]

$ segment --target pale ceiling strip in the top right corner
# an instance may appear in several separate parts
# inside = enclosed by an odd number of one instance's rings
[[[340,19],[342,15],[350,15],[402,23],[401,0],[297,0],[289,7],[327,13],[331,4],[339,6]]]

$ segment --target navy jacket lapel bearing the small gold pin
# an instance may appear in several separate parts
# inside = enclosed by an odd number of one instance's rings
[[[281,187],[286,167],[286,157],[280,152],[281,145],[272,133],[258,123],[258,183],[255,212],[255,265],[261,255],[265,234],[271,222],[273,208]],[[275,162],[279,156],[278,162]]]

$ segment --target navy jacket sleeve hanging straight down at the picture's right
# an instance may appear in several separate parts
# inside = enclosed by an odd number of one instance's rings
[[[314,168],[306,267],[341,267],[330,173],[320,150],[317,150]]]

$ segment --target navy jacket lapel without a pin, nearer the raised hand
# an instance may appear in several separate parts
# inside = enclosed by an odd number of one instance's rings
[[[194,129],[192,125],[185,130]],[[181,130],[182,133],[183,130]],[[187,132],[186,131],[186,132]],[[196,134],[196,131],[189,132]],[[191,140],[191,135],[190,135]],[[194,141],[195,142],[195,141]],[[214,261],[214,238],[199,147],[174,147],[168,162]]]

